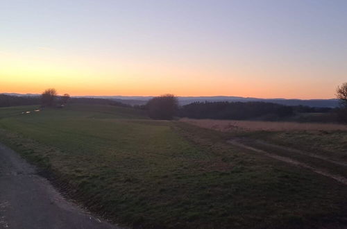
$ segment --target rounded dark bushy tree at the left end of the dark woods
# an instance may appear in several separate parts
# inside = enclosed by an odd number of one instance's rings
[[[173,94],[154,97],[146,104],[151,119],[173,119],[178,109],[178,100]]]

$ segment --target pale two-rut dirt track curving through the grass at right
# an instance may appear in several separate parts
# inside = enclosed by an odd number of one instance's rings
[[[256,140],[254,140],[254,141],[256,141]],[[334,180],[339,181],[340,183],[343,183],[344,185],[347,185],[347,178],[344,178],[343,176],[332,174],[332,173],[330,173],[328,171],[324,171],[322,169],[319,169],[319,168],[316,168],[316,167],[312,167],[309,164],[305,164],[303,162],[299,162],[298,160],[294,160],[292,158],[287,158],[287,157],[284,157],[284,156],[276,155],[274,153],[269,153],[269,152],[264,151],[262,149],[257,149],[257,148],[255,148],[253,146],[248,146],[247,144],[244,144],[244,142],[242,142],[239,139],[230,139],[228,141],[228,143],[233,144],[233,145],[238,146],[238,147],[241,147],[241,148],[244,148],[244,149],[248,149],[248,150],[257,152],[257,153],[262,153],[263,155],[266,155],[269,158],[274,158],[274,159],[280,160],[282,162],[287,162],[289,164],[294,164],[296,166],[303,167],[305,169],[310,169],[311,171],[314,171],[315,173],[319,173],[319,174],[321,174],[323,176],[328,176],[329,178],[332,178]],[[282,150],[285,149],[285,150],[289,151],[289,149],[287,147],[277,146],[277,145],[269,144],[269,143],[265,143],[265,142],[262,142],[262,144],[266,144],[268,146],[270,146],[270,145],[271,146],[275,146],[275,147],[278,147],[278,149],[282,149]],[[294,149],[290,149],[290,151],[294,152],[295,150]],[[296,153],[299,153],[299,152],[296,152]],[[300,151],[300,153],[303,153],[303,152]],[[312,155],[312,153],[308,153],[307,155],[310,156],[310,155]],[[319,158],[322,159],[321,157],[319,157]],[[341,165],[344,166],[345,164],[341,164]]]

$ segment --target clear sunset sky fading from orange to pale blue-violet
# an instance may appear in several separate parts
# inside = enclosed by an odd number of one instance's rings
[[[0,0],[0,93],[331,99],[345,0]]]

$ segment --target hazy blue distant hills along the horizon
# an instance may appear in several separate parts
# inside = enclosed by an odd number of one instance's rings
[[[40,94],[17,94],[17,93],[3,93],[11,96],[39,96]],[[73,96],[74,98],[95,98],[95,99],[112,99],[120,103],[128,105],[144,105],[153,96]],[[193,102],[251,102],[260,101],[268,103],[278,103],[282,105],[307,105],[317,108],[336,108],[339,105],[337,99],[259,99],[251,97],[239,96],[178,96],[180,105],[187,105]]]

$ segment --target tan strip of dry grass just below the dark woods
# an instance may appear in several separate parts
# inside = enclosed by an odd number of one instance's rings
[[[241,121],[241,120],[215,120],[215,119],[180,119],[188,124],[194,124],[202,128],[230,131],[290,131],[290,130],[347,130],[343,124],[319,124],[319,123],[296,123],[289,121]]]

